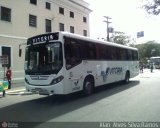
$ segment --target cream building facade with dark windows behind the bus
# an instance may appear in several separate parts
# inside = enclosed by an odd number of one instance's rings
[[[56,31],[89,36],[90,12],[83,0],[1,0],[0,57],[7,55],[13,81],[24,79],[24,47],[19,57],[19,44],[31,36]],[[4,69],[0,61],[0,79]]]

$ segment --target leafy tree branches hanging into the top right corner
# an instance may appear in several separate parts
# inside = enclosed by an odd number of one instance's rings
[[[160,13],[160,0],[146,0],[146,4],[143,5],[143,8],[153,15],[158,15]]]

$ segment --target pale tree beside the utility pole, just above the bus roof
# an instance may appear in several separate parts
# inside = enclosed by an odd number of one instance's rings
[[[124,32],[115,31],[110,38],[114,43],[127,45],[130,42],[130,37],[126,36]]]

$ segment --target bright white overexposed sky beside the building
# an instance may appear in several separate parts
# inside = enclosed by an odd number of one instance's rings
[[[136,42],[160,41],[160,16],[153,16],[142,9],[143,0],[85,0],[90,4],[90,37],[106,38],[107,25],[103,16],[109,16],[111,27],[132,36]],[[144,37],[136,38],[144,31]]]

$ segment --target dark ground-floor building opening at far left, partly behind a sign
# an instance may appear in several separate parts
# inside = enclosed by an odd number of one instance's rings
[[[2,56],[8,56],[8,64],[5,67],[11,67],[11,47],[2,46]]]

